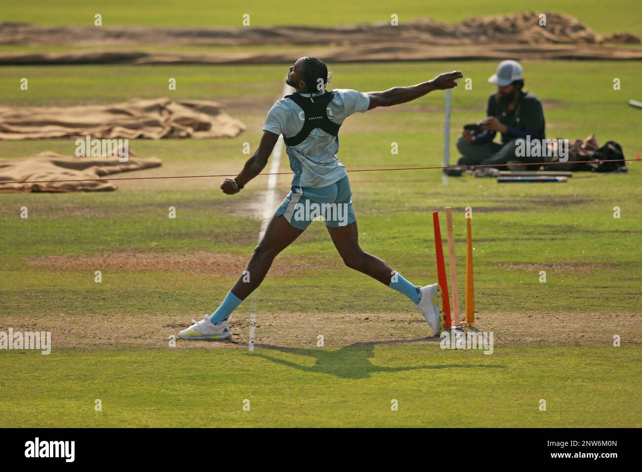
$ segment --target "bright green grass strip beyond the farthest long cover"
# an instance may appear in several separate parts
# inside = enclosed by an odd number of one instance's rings
[[[279,24],[310,24],[336,26],[360,22],[390,21],[393,13],[399,21],[431,17],[438,21],[458,22],[474,16],[505,15],[512,12],[559,12],[578,17],[598,33],[632,31],[642,35],[639,24],[639,2],[614,0],[607,5],[601,0],[537,0],[528,3],[506,3],[500,0],[467,0],[459,3],[421,3],[399,0],[394,6],[384,0],[369,1],[357,6],[341,0],[327,0],[314,14],[300,14],[304,9],[290,2],[240,1],[212,3],[189,0],[137,1],[112,0],[86,2],[83,0],[33,0],[28,3],[7,3],[0,6],[3,21],[67,25],[94,24],[94,15],[103,15],[103,26],[242,26],[243,15],[250,15],[251,26]]]

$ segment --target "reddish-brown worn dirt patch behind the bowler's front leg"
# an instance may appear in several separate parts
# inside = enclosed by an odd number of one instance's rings
[[[162,253],[108,252],[89,256],[43,256],[31,258],[30,265],[55,267],[58,270],[81,268],[112,270],[147,270],[153,272],[195,272],[198,274],[240,274],[247,268],[251,254],[219,254],[217,252]],[[301,258],[280,254],[270,268],[270,274],[292,274],[312,270],[322,265],[321,258]]]

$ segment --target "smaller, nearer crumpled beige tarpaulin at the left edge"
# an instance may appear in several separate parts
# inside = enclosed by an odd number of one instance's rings
[[[117,157],[65,157],[46,151],[24,159],[0,159],[0,193],[116,190],[116,184],[108,180],[37,184],[22,182],[100,179],[103,175],[158,166],[160,166],[160,159],[157,157],[133,157],[131,152],[127,162],[119,162]],[[21,183],[4,184],[3,182]]]

